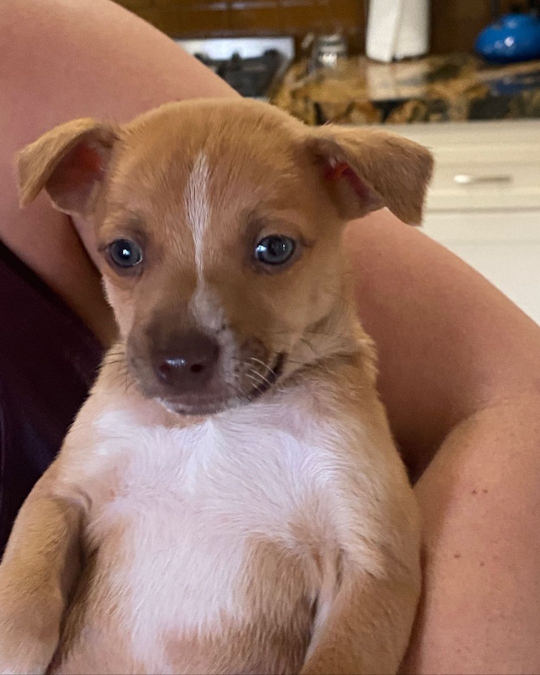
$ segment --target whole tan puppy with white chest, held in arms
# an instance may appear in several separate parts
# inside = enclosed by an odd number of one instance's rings
[[[391,673],[418,518],[340,250],[423,148],[262,103],[81,119],[18,159],[92,223],[117,344],[0,566],[3,673]]]

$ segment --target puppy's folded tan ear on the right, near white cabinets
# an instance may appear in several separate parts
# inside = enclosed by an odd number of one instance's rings
[[[426,148],[388,132],[332,126],[312,132],[309,142],[342,217],[387,206],[405,223],[421,223],[433,170]]]

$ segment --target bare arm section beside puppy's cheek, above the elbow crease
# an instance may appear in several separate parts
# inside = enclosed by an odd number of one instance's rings
[[[388,211],[346,233],[358,312],[379,352],[379,391],[420,475],[450,429],[537,387],[540,328],[479,273]]]

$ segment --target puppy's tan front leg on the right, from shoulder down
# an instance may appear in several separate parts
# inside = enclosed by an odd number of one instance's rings
[[[358,445],[342,446],[303,675],[389,675],[408,645],[421,590],[420,518],[378,409],[363,432],[352,419]]]

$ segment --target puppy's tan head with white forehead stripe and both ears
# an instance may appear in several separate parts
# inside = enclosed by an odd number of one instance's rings
[[[18,170],[23,203],[45,188],[93,228],[143,394],[205,414],[352,348],[342,227],[383,205],[418,223],[431,157],[262,103],[191,101],[126,126],[64,124],[25,148]]]

